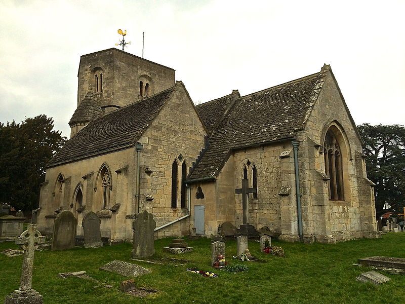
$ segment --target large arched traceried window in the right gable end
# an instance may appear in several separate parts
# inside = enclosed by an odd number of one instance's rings
[[[325,160],[325,173],[328,181],[329,199],[343,201],[343,169],[342,152],[335,134],[328,130],[323,144],[323,157]]]

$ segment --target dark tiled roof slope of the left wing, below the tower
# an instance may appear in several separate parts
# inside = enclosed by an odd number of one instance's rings
[[[108,113],[76,133],[47,167],[130,147],[156,117],[176,86]]]

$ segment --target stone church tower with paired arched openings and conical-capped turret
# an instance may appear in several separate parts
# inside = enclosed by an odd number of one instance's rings
[[[173,87],[174,74],[170,67],[114,48],[83,55],[70,137],[110,111]]]

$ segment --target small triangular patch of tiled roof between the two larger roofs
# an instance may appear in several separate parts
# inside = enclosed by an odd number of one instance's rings
[[[237,90],[224,97],[214,99],[205,103],[201,103],[195,106],[198,115],[203,121],[209,134],[211,134],[215,126],[220,122],[224,112],[232,103],[234,98],[240,97]]]

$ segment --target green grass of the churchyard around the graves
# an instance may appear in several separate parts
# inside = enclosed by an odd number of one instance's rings
[[[286,258],[259,252],[259,243],[249,242],[252,254],[267,262],[245,262],[248,272],[227,273],[210,267],[209,239],[188,241],[194,251],[170,255],[162,251],[170,239],[155,241],[153,259],[176,257],[190,260],[186,265],[134,262],[151,270],[135,279],[138,287],[159,293],[136,298],[119,291],[127,278],[98,268],[113,260],[130,261],[131,244],[99,249],[76,248],[67,251],[36,251],[32,286],[45,303],[397,303],[405,300],[405,276],[384,273],[392,280],[381,286],[357,282],[355,277],[368,268],[352,265],[357,258],[383,255],[405,258],[405,233],[387,234],[380,240],[358,240],[324,244],[291,244],[273,241],[285,249]],[[0,243],[0,250],[18,248],[12,242]],[[226,259],[236,261],[236,242],[227,241]],[[22,256],[0,254],[0,302],[18,289]],[[205,278],[186,272],[187,267],[213,271],[218,278]],[[61,272],[87,271],[91,277],[112,284],[106,289],[78,278],[62,279]]]

